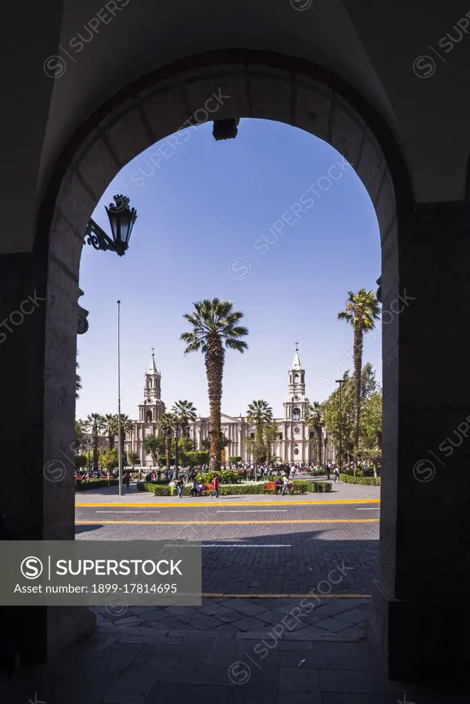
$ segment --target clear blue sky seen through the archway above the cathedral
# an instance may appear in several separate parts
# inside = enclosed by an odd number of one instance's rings
[[[211,124],[201,125],[179,146],[160,142],[137,156],[94,212],[109,232],[104,202],[123,192],[138,216],[125,256],[84,247],[80,304],[89,310],[89,331],[78,337],[77,417],[117,410],[118,299],[121,410],[132,418],[151,347],[167,408],[188,398],[198,413],[209,413],[204,358],[185,357],[179,339],[188,329],[183,313],[201,298],[233,301],[249,329],[248,351],[226,355],[228,415],[245,413],[254,398],[283,415],[295,341],[311,401],[326,398],[352,368],[352,328],[336,316],[348,290],[376,291],[381,273],[366,189],[349,165],[331,169],[342,156],[302,130],[242,120],[236,139],[216,142],[211,132]],[[374,337],[366,340],[364,363],[380,381],[381,335]]]

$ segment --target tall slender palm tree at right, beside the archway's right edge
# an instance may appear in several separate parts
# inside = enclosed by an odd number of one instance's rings
[[[376,294],[373,291],[359,289],[357,294],[347,292],[346,310],[338,313],[338,320],[346,320],[354,329],[354,454],[359,447],[359,421],[361,418],[361,372],[362,348],[364,332],[375,327],[381,313]],[[354,474],[357,467],[357,457],[354,457]]]

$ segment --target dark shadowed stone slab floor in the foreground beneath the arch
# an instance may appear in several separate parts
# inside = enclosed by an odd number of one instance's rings
[[[112,624],[111,624],[112,625]],[[364,641],[265,643],[95,632],[49,665],[23,670],[0,701],[24,704],[464,704],[468,693],[390,682]],[[144,631],[144,629],[142,629]],[[177,642],[178,641],[178,642]],[[267,653],[265,652],[267,650]],[[303,662],[302,662],[303,661]]]

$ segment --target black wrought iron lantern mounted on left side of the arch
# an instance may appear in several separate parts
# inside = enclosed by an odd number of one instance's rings
[[[132,227],[137,220],[137,211],[129,207],[128,196],[116,195],[113,198],[114,203],[105,206],[113,239],[101,230],[94,220],[89,221],[85,237],[88,237],[88,244],[94,246],[94,249],[101,249],[101,251],[111,249],[122,257],[129,247]]]

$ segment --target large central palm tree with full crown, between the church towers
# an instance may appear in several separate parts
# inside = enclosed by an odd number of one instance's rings
[[[220,298],[204,298],[194,303],[194,312],[183,318],[192,325],[192,332],[183,332],[180,339],[187,343],[185,354],[201,350],[205,356],[209,387],[211,417],[211,471],[221,469],[221,399],[225,348],[245,352],[248,345],[241,338],[248,334],[246,327],[237,325],[243,313],[233,310],[233,303]]]

